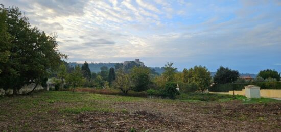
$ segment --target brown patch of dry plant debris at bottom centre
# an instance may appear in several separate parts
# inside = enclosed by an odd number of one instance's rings
[[[76,120],[83,123],[84,130],[94,131],[130,131],[135,130],[176,130],[182,122],[170,120],[161,114],[147,111],[79,114]]]

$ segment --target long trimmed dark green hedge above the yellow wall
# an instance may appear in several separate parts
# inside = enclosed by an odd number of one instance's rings
[[[261,89],[281,89],[281,82],[247,82],[247,83],[228,83],[228,84],[215,84],[209,87],[208,90],[212,92],[228,92],[231,90],[242,90],[247,85],[256,85]]]

